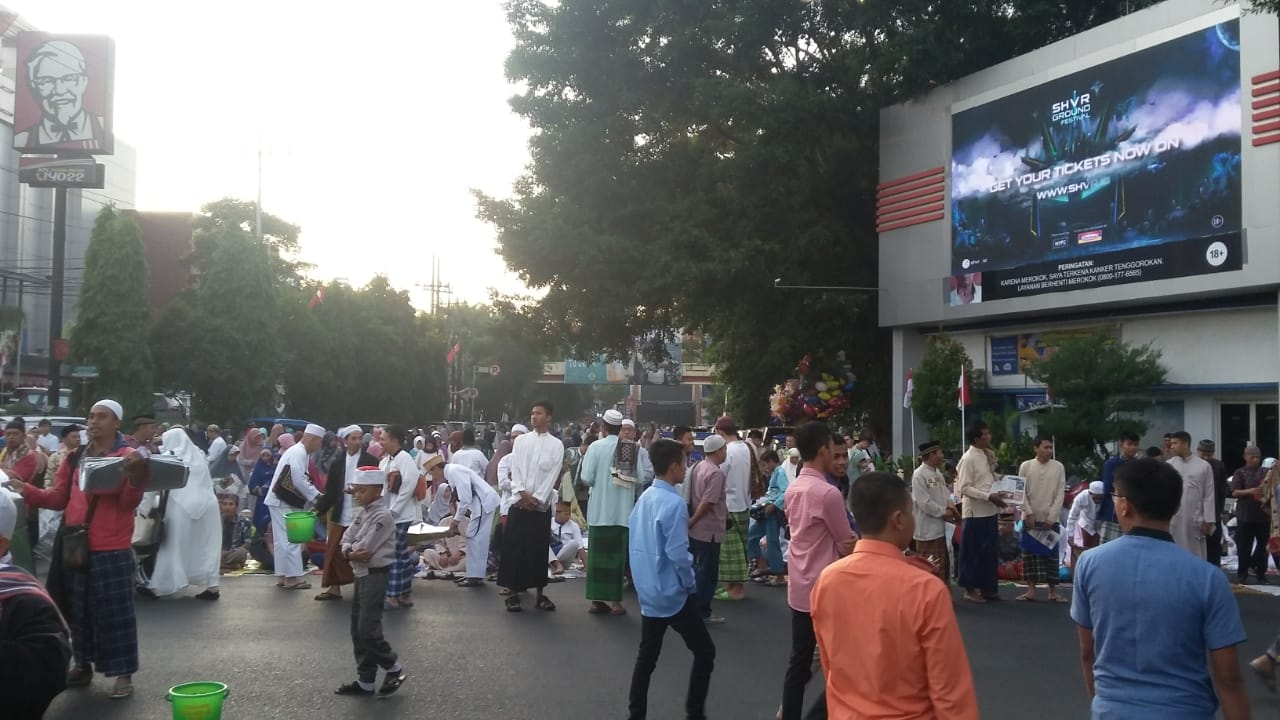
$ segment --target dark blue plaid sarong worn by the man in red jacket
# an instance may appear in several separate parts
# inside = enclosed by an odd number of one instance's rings
[[[108,678],[137,673],[133,551],[90,552],[88,573],[67,573],[65,578],[76,666]]]

